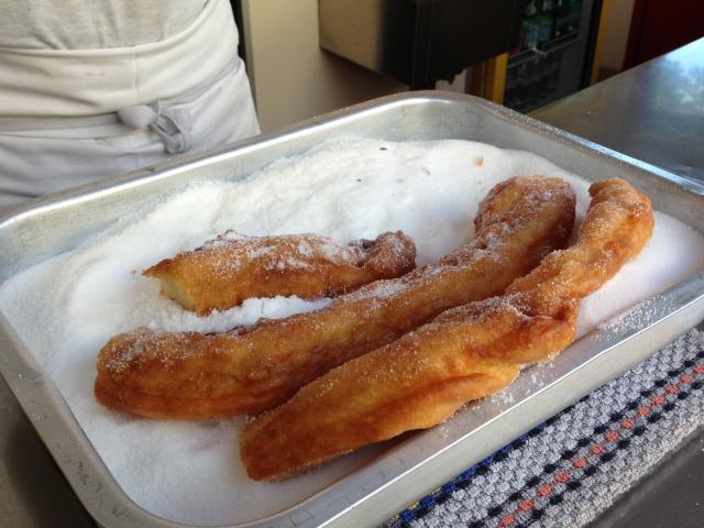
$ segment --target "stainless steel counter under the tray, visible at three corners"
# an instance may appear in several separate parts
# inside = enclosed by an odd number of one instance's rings
[[[532,116],[632,157],[704,180],[704,40]],[[701,526],[703,439],[704,431],[696,433],[673,453],[667,466],[657,469],[594,526],[613,526],[625,515],[629,521],[620,521],[622,526],[632,526],[631,514],[636,510],[644,528]],[[664,497],[678,502],[676,521],[667,515],[667,506],[660,502]],[[94,526],[2,380],[0,519],[0,525],[13,528]]]

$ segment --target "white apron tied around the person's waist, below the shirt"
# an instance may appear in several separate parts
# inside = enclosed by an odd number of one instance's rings
[[[0,213],[29,198],[258,133],[227,0],[166,40],[0,47]]]

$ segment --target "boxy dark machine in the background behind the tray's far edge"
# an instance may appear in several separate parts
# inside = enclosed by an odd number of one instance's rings
[[[320,46],[433,88],[516,47],[525,0],[319,0]]]

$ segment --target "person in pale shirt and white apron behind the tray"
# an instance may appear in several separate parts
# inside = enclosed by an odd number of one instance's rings
[[[229,0],[0,0],[0,38],[44,46],[0,46],[0,216],[258,132]]]

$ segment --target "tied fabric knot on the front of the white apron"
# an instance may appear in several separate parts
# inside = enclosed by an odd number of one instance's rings
[[[186,152],[191,145],[191,120],[187,109],[153,105],[138,105],[118,110],[118,118],[131,129],[151,128],[164,143],[169,154]]]

